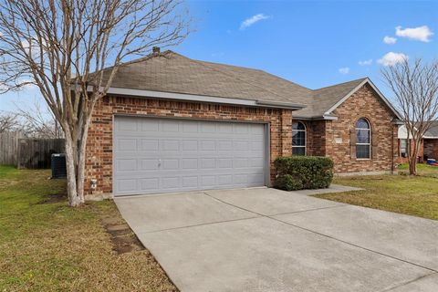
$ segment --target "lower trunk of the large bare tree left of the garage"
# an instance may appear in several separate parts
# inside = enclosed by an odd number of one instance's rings
[[[80,198],[78,196],[78,183],[75,162],[75,142],[71,139],[70,133],[66,132],[66,165],[67,165],[67,194],[68,204],[72,207],[78,206]]]

